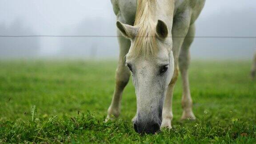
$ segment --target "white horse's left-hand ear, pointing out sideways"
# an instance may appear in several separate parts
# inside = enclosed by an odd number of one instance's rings
[[[134,39],[138,33],[137,28],[128,25],[128,24],[122,24],[120,21],[116,22],[117,28],[120,30],[120,32],[129,39]]]

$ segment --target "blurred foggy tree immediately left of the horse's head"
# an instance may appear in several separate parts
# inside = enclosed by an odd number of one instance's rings
[[[118,55],[116,37],[97,37],[116,36],[115,22],[104,18],[88,18],[81,21],[76,29],[65,29],[62,35],[88,37],[62,38],[59,55],[80,58],[116,57]]]

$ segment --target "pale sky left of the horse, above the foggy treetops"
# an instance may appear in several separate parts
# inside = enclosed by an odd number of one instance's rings
[[[115,20],[110,0],[0,0],[0,13],[0,23],[22,19],[39,35],[58,35],[87,18]]]

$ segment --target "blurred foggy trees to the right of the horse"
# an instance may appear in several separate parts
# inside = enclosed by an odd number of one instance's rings
[[[222,12],[196,21],[196,36],[252,36],[256,34],[256,9]],[[253,38],[196,38],[192,56],[204,59],[250,59],[256,48]]]

